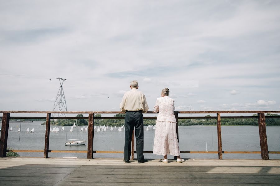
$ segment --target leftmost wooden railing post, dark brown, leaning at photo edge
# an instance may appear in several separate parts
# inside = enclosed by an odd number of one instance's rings
[[[0,157],[6,157],[10,113],[3,113],[0,137]]]

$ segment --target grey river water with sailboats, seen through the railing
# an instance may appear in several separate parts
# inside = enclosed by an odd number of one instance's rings
[[[44,149],[45,126],[42,122],[21,123],[21,132],[16,132],[20,123],[11,122],[13,131],[8,132],[7,147],[12,149]],[[26,129],[34,128],[34,133],[25,133]],[[54,126],[51,126],[52,128]],[[62,126],[58,126],[61,130]],[[87,131],[77,131],[70,126],[64,126],[64,131],[50,132],[50,150],[87,150],[86,145],[65,146],[68,139],[86,139]],[[267,126],[268,150],[280,151],[280,126]],[[144,151],[152,151],[155,131],[144,130]],[[135,144],[136,145],[136,144]],[[179,126],[179,145],[181,151],[217,151],[217,126]],[[94,150],[123,151],[124,130],[119,132],[118,127],[113,131],[94,131]],[[136,149],[136,148],[135,148]],[[260,151],[258,126],[222,126],[222,149],[224,151]],[[21,156],[39,156],[43,153],[19,153]],[[86,153],[49,153],[49,157],[75,156],[86,158]],[[94,157],[119,157],[122,154],[95,154]],[[135,154],[136,157],[136,154]],[[183,154],[185,158],[217,158],[217,154]],[[269,154],[271,159],[280,158],[279,154]],[[161,158],[154,154],[145,154],[145,158]],[[168,156],[172,158],[172,156]],[[223,154],[223,158],[261,158],[260,154]]]

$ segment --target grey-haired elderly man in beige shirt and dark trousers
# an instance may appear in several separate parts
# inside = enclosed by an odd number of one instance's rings
[[[149,107],[145,95],[138,91],[138,82],[130,83],[130,91],[124,94],[122,102],[119,104],[120,110],[125,112],[124,117],[124,162],[129,163],[131,152],[132,132],[135,128],[136,153],[138,163],[145,163],[148,160],[144,158],[144,126],[143,114],[147,113]]]

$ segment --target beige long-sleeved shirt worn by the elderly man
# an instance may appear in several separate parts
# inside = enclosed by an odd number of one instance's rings
[[[122,102],[119,104],[119,108],[122,112],[142,110],[142,113],[147,113],[149,110],[145,95],[136,88],[124,93],[124,97]]]

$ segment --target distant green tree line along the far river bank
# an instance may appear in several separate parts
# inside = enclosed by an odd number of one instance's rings
[[[95,114],[95,117],[101,117],[101,114]],[[114,117],[124,117],[125,114],[116,114]],[[252,116],[257,116],[253,114]],[[268,113],[266,116],[280,116],[278,114]],[[78,114],[76,117],[84,117],[82,114]],[[211,117],[206,115],[205,117]],[[52,125],[73,125],[73,123],[78,124],[78,126],[88,125],[88,119],[58,119],[58,121],[51,121]],[[280,119],[266,118],[266,125],[280,125]],[[42,123],[42,124],[45,124]],[[156,119],[144,119],[144,125],[155,125]],[[179,119],[178,125],[180,126],[189,126],[189,125],[216,125],[217,119]],[[124,119],[95,119],[94,125],[105,125],[105,126],[122,126],[124,125]],[[223,118],[221,119],[221,125],[258,125],[258,119],[249,118],[249,119],[239,119],[239,118]]]

